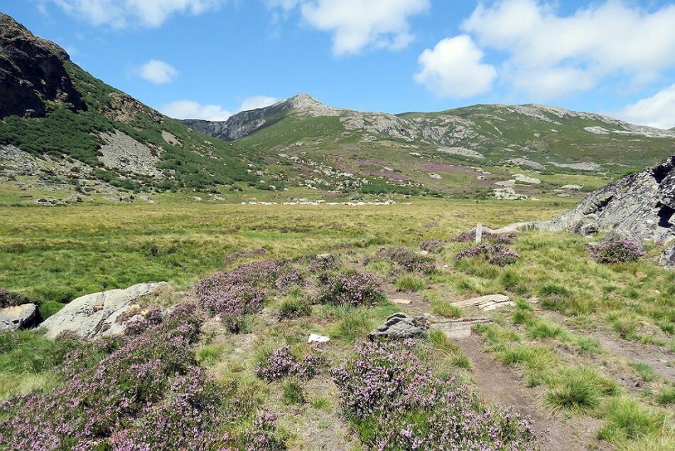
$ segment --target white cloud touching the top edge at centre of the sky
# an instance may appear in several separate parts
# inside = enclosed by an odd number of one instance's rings
[[[429,8],[429,0],[268,0],[271,8],[300,8],[313,28],[333,33],[333,53],[365,48],[404,48],[413,40],[409,18]]]

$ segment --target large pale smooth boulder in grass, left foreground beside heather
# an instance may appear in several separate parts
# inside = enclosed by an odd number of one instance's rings
[[[149,282],[132,285],[126,290],[109,290],[73,299],[58,313],[41,324],[46,336],[54,338],[62,332],[72,331],[84,339],[99,335],[124,332],[124,317],[131,302],[148,295],[166,282]]]

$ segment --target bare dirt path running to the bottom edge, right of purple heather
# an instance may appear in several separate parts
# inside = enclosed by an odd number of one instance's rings
[[[487,400],[513,408],[534,421],[538,433],[546,433],[547,440],[541,449],[545,451],[582,451],[586,444],[593,442],[597,449],[611,449],[595,440],[598,420],[576,416],[571,419],[558,418],[541,405],[541,389],[524,387],[519,373],[513,368],[495,361],[489,354],[481,352],[478,336],[453,341],[471,359],[475,384]]]

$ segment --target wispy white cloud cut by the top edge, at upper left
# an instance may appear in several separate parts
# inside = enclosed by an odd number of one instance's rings
[[[158,27],[175,13],[197,16],[226,0],[44,0],[92,25]]]

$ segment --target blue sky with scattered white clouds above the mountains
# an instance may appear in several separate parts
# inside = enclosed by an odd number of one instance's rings
[[[0,0],[175,117],[308,92],[337,107],[539,102],[675,127],[675,2]]]

